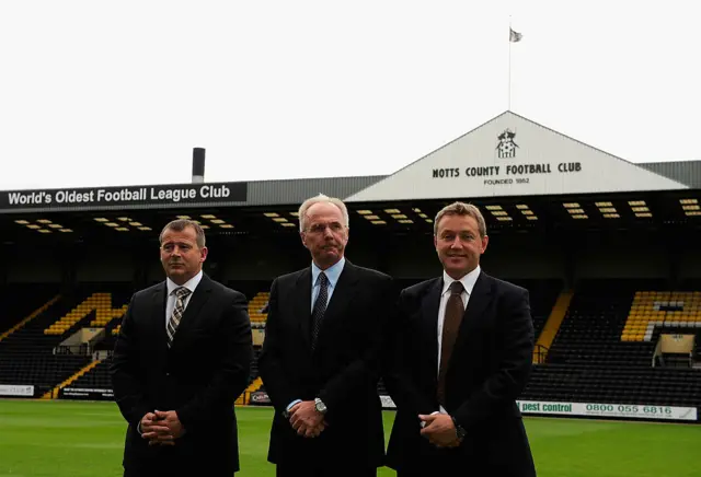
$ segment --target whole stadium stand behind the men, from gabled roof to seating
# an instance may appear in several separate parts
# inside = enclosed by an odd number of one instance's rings
[[[249,295],[260,342],[269,282],[309,264],[296,211],[320,193],[348,205],[349,258],[407,284],[440,270],[435,213],[452,200],[482,208],[484,268],[527,287],[533,302],[539,345],[525,412],[698,419],[701,161],[635,164],[512,112],[388,176],[0,193],[0,282],[16,310],[0,323],[9,330],[0,385],[95,397],[74,391],[82,380],[108,397],[95,383],[110,336],[130,292],[162,279],[154,242],[176,217],[207,228],[206,271]],[[83,328],[104,329],[103,352],[66,345]],[[18,351],[30,338],[45,359]],[[673,345],[682,351],[665,352]],[[265,402],[264,384],[253,384],[243,400]]]

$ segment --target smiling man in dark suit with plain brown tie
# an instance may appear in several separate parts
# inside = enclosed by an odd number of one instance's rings
[[[388,346],[398,407],[388,465],[400,477],[533,477],[516,404],[533,350],[528,292],[481,270],[489,237],[476,207],[447,206],[434,233],[444,274],[401,292]]]

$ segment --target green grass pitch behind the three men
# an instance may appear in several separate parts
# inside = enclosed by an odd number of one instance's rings
[[[265,461],[268,408],[238,408],[242,477]],[[393,412],[386,412],[389,435]],[[701,426],[527,418],[540,477],[701,476]],[[125,422],[114,403],[0,400],[0,477],[122,475]],[[383,468],[380,476],[394,476]]]

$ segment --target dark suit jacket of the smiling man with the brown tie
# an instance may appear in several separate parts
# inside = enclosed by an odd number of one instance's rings
[[[528,291],[484,274],[468,301],[446,376],[446,410],[467,431],[457,450],[420,434],[420,414],[439,410],[437,319],[443,278],[403,290],[388,346],[384,383],[398,406],[388,465],[417,468],[452,462],[484,475],[535,476],[515,400],[528,380],[533,326]],[[482,475],[482,474],[475,474]]]

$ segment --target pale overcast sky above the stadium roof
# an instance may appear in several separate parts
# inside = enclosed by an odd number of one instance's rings
[[[0,189],[391,174],[508,108],[701,159],[698,2],[3,1]]]

